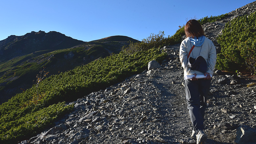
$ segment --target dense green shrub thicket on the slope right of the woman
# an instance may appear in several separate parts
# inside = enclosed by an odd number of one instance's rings
[[[218,43],[222,47],[218,69],[256,73],[256,12],[226,23]]]

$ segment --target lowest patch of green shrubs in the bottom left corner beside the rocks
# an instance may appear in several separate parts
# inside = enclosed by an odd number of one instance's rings
[[[23,117],[17,116],[17,113],[2,116],[0,118],[2,122],[0,124],[0,141],[1,143],[11,144],[18,139],[23,139],[24,136],[33,135],[52,124],[57,117],[72,110],[73,107],[73,105],[65,106],[65,103],[62,102],[24,114]],[[3,123],[3,121],[5,122]]]

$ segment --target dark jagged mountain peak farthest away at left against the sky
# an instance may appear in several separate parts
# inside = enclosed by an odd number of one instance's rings
[[[56,50],[70,48],[85,43],[68,37],[56,31],[32,31],[23,36],[11,35],[0,41],[0,61],[8,61],[17,56],[23,56],[41,50]]]

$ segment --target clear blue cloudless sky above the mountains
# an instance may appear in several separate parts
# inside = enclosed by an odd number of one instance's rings
[[[189,18],[217,16],[254,0],[4,0],[0,40],[31,31],[57,31],[82,41],[151,33],[172,36]]]

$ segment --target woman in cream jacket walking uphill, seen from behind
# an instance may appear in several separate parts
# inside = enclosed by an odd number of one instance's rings
[[[189,20],[184,30],[187,38],[181,42],[180,46],[181,65],[184,68],[184,76],[194,75],[191,80],[184,80],[187,108],[193,125],[191,137],[196,138],[197,143],[201,143],[207,139],[203,132],[203,119],[206,97],[211,85],[210,75],[213,75],[216,64],[216,48],[212,41],[205,37],[203,28],[197,20]],[[205,60],[205,66],[199,64],[201,69],[191,67],[193,63],[189,63],[190,60],[195,62],[199,56],[203,57],[203,61]],[[198,61],[201,63],[202,59],[198,58],[195,63]],[[197,75],[204,75],[206,78],[197,79]]]

